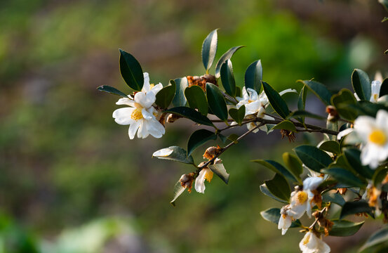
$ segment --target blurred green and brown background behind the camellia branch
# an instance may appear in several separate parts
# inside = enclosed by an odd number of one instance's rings
[[[152,153],[185,147],[195,126],[180,119],[161,139],[130,141],[112,119],[117,98],[96,87],[128,91],[118,48],[155,83],[201,75],[201,43],[215,28],[218,57],[246,45],[232,58],[239,86],[261,59],[278,91],[313,77],[349,87],[355,67],[371,78],[387,71],[384,15],[373,0],[0,1],[0,252],[299,252],[301,234],[281,237],[261,218],[280,205],[259,190],[272,173],[249,160],[281,162],[319,136],[288,144],[277,132],[255,134],[222,156],[228,186],[214,179],[174,208],[173,186],[192,168]],[[319,101],[307,103],[323,115]],[[373,226],[325,240],[355,252]]]

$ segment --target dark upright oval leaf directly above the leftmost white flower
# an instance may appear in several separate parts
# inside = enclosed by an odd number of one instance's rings
[[[135,90],[141,91],[144,84],[144,75],[142,67],[138,60],[122,49],[120,51],[120,72],[128,86]]]

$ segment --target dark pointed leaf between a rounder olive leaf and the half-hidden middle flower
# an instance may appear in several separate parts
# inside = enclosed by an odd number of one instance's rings
[[[218,89],[218,86],[207,83],[206,96],[208,98],[210,110],[215,116],[226,122],[228,118],[227,103],[225,102],[225,98],[222,96],[220,89]]]

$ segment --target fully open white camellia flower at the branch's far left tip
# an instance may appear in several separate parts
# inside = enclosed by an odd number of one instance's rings
[[[116,105],[128,105],[130,107],[119,108],[113,112],[114,121],[117,124],[129,125],[128,136],[146,138],[151,134],[155,138],[161,138],[165,133],[164,126],[158,121],[159,112],[152,106],[156,100],[156,93],[163,88],[162,84],[149,84],[148,73],[144,73],[144,85],[142,91],[135,93],[133,99],[120,98]]]

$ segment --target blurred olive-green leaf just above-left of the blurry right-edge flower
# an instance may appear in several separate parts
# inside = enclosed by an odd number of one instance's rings
[[[339,93],[333,95],[331,97],[331,103],[344,119],[353,121],[359,115],[354,108],[349,106],[357,103],[356,98],[349,89],[342,89]]]

